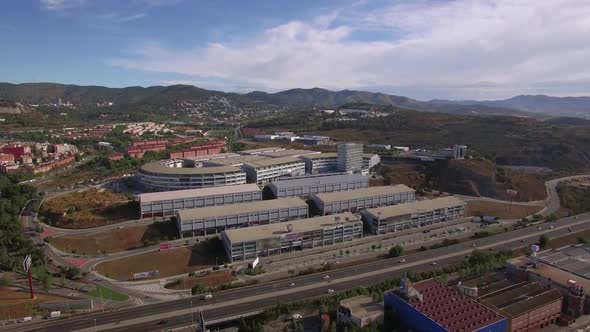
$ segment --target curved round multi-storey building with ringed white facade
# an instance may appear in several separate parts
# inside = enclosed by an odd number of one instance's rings
[[[246,173],[237,167],[185,166],[182,159],[151,162],[139,169],[139,180],[146,191],[208,188],[246,183]]]

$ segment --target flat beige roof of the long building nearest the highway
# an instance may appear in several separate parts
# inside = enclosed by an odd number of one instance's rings
[[[336,218],[339,217],[340,221]],[[348,219],[348,221],[347,221]],[[299,219],[289,222],[274,223],[268,225],[244,227],[229,229],[224,231],[227,238],[232,243],[241,243],[248,241],[257,241],[270,238],[278,238],[286,234],[298,234],[315,231],[323,228],[334,228],[345,223],[362,223],[355,215],[350,212],[332,214],[308,219]],[[287,231],[287,225],[293,226],[293,231]]]

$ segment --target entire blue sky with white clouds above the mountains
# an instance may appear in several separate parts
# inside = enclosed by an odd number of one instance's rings
[[[0,81],[590,95],[587,0],[3,0]]]

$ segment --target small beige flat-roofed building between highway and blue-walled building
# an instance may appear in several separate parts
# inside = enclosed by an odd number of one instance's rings
[[[336,322],[363,328],[373,322],[382,324],[383,315],[383,303],[376,302],[370,295],[360,295],[340,301]]]

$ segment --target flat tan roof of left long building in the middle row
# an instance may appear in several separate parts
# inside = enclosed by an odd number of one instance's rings
[[[228,205],[209,206],[178,210],[180,220],[206,219],[218,216],[229,216],[258,211],[268,211],[282,208],[306,207],[307,204],[299,197],[279,198],[266,201],[255,201],[249,203],[238,203]]]

